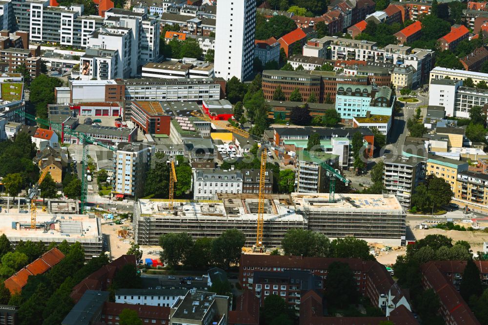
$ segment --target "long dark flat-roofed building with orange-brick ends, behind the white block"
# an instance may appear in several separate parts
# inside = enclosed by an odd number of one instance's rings
[[[313,133],[319,134],[321,140],[332,140],[334,138],[347,138],[348,140],[351,140],[356,132],[361,132],[363,140],[368,143],[368,148],[365,153],[366,156],[368,158],[373,157],[374,135],[373,132],[367,128],[313,128],[308,126],[302,128],[275,127],[273,142],[274,145],[283,147],[286,140],[308,140]]]

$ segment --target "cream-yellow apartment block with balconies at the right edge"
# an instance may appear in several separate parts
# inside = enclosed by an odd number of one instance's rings
[[[462,200],[462,207],[468,204],[471,209],[487,212],[488,175],[471,171],[459,172],[454,197]]]

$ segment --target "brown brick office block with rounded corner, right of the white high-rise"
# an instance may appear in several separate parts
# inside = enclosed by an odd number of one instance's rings
[[[263,93],[267,100],[273,99],[273,94],[281,87],[285,100],[288,101],[293,90],[298,89],[303,99],[314,93],[318,102],[335,101],[337,84],[366,85],[367,76],[351,76],[334,71],[263,71]]]

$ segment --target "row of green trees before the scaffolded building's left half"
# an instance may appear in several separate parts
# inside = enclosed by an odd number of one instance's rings
[[[239,263],[245,235],[237,229],[229,229],[217,238],[198,238],[193,241],[187,233],[167,233],[159,239],[163,251],[161,261],[170,267],[183,264],[185,267],[206,270],[210,265],[228,269]]]

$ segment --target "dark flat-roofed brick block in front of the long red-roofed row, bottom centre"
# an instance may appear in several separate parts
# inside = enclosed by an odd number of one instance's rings
[[[324,288],[324,279],[309,271],[283,270],[272,272],[254,270],[252,279],[251,290],[260,299],[261,306],[264,305],[266,297],[276,295],[283,298],[288,307],[296,307],[296,310],[300,310],[302,292]],[[298,304],[296,304],[297,302]]]

